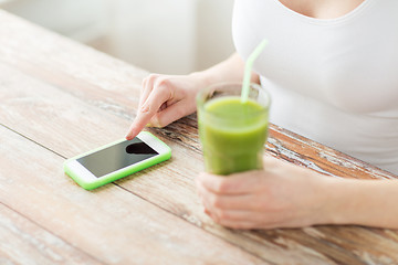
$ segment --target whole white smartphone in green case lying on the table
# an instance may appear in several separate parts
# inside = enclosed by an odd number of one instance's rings
[[[93,190],[171,157],[171,149],[153,134],[121,139],[67,159],[64,171],[82,188]]]

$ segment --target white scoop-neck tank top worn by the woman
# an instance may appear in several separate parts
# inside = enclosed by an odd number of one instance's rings
[[[365,0],[336,19],[277,0],[235,0],[238,53],[271,93],[270,121],[398,174],[398,0]]]

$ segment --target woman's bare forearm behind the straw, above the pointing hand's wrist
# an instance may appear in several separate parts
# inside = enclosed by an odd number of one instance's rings
[[[244,73],[244,62],[238,53],[232,54],[226,61],[201,72],[192,73],[208,82],[208,85],[219,82],[242,82]],[[259,75],[252,73],[252,83],[260,83]]]

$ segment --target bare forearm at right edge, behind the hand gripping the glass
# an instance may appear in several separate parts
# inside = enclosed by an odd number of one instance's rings
[[[331,223],[398,229],[398,180],[336,179],[325,189]]]

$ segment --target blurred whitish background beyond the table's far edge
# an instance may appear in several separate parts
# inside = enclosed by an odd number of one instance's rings
[[[186,74],[233,52],[233,0],[0,0],[0,7],[150,72]]]

